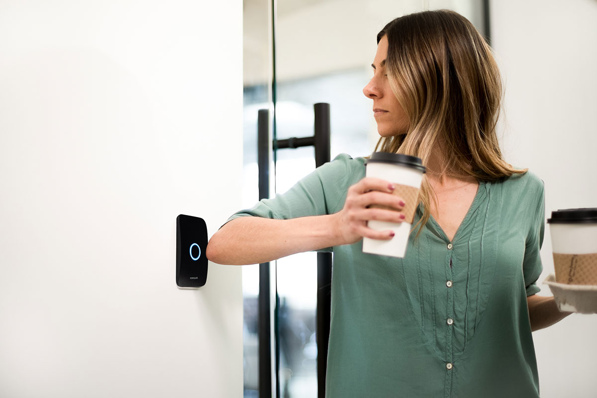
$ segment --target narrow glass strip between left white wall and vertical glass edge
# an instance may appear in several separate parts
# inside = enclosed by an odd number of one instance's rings
[[[260,192],[258,164],[258,119],[262,110],[266,116],[266,129],[273,122],[273,3],[271,0],[244,0],[243,2],[243,185],[242,206],[251,208],[263,195],[269,197],[272,183],[266,184],[268,192]],[[263,122],[263,120],[261,121]],[[262,126],[263,127],[263,126]],[[269,127],[269,128],[268,128]],[[270,140],[271,141],[271,140]],[[271,144],[269,145],[271,147]],[[266,166],[273,171],[272,150],[267,151]],[[271,163],[271,164],[270,164]],[[263,181],[261,181],[263,183]],[[267,181],[270,182],[269,180]],[[272,189],[270,189],[272,187]],[[245,398],[274,396],[272,383],[276,381],[273,310],[275,289],[263,292],[263,282],[275,281],[269,273],[275,270],[270,264],[253,264],[242,267],[243,293],[243,371]],[[266,278],[263,276],[266,272]],[[267,279],[265,281],[264,279]],[[261,283],[260,283],[261,282]],[[270,283],[267,283],[269,285]],[[269,286],[266,286],[269,288]],[[263,297],[266,295],[267,297]],[[264,305],[265,304],[265,305]],[[260,357],[262,358],[260,360]],[[264,358],[264,359],[263,359]],[[273,364],[273,365],[272,365]],[[265,370],[264,370],[265,369]]]

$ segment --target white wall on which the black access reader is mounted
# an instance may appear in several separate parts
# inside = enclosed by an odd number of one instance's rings
[[[2,2],[0,396],[242,396],[241,270],[175,282],[241,172],[241,1]]]

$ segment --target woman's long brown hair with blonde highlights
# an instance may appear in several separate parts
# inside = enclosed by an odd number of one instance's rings
[[[426,165],[441,142],[447,174],[491,181],[527,171],[513,168],[501,155],[496,134],[500,72],[491,48],[469,20],[450,10],[423,11],[388,23],[377,43],[383,36],[390,88],[410,125],[406,134],[381,137],[376,152],[417,156]],[[424,177],[417,236],[429,220],[432,195]]]

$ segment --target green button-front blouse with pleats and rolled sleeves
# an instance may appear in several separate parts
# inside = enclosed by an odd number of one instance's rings
[[[334,214],[364,161],[338,155],[228,221]],[[538,397],[527,296],[543,230],[543,183],[527,172],[481,181],[452,242],[430,218],[404,259],[362,240],[322,249],[334,253],[326,396]]]

